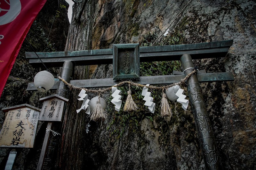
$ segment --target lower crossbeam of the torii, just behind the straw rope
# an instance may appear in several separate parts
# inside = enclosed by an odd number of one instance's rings
[[[202,71],[204,72],[204,71]],[[234,76],[231,72],[224,73],[201,73],[197,74],[199,82],[213,82],[213,81],[234,81]],[[158,75],[158,76],[143,76],[140,79],[132,80],[135,83],[140,84],[172,84],[180,82],[181,79],[184,79],[184,74],[178,75]],[[82,88],[93,88],[93,87],[111,87],[115,84],[118,84],[120,81],[115,81],[112,78],[109,79],[88,79],[88,80],[71,80],[70,84],[76,87]],[[36,88],[33,85],[34,83],[28,84],[28,91],[35,91]],[[51,89],[55,90],[55,89]]]

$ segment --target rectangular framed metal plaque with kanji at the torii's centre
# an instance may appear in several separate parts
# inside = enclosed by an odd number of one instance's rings
[[[139,44],[113,44],[113,80],[140,78]]]

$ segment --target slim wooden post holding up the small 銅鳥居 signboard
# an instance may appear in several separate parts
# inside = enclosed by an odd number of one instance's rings
[[[52,122],[48,123],[47,128],[52,129]],[[38,161],[38,164],[37,164],[37,170],[42,169],[45,154],[47,152],[46,148],[48,148],[48,145],[49,145],[49,137],[50,137],[50,132],[46,132],[45,136],[44,136],[44,143],[43,143],[43,146],[42,146],[41,154],[40,154],[39,161]]]

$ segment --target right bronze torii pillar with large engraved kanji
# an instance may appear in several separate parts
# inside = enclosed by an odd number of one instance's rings
[[[180,57],[181,67],[185,75],[194,70],[194,64],[189,54],[183,54]],[[212,126],[207,114],[202,90],[199,86],[197,75],[191,76],[188,81],[188,95],[192,105],[196,130],[198,132],[199,143],[201,146],[204,165],[206,170],[223,169],[220,161],[220,155],[217,150]]]

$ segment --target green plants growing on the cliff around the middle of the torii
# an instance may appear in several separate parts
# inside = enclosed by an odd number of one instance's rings
[[[139,24],[132,24],[128,26],[131,31],[131,35],[134,35],[135,32],[139,29]],[[135,34],[137,35],[137,34]],[[140,41],[140,46],[152,46],[154,41],[157,39],[159,33],[156,31],[148,32],[145,35],[142,35],[143,39]],[[162,39],[156,45],[178,45],[178,44],[185,44],[186,39],[184,36],[184,32],[175,30],[172,33],[169,33],[167,37]],[[160,61],[160,62],[142,62],[140,63],[140,76],[151,76],[151,75],[170,75],[172,74],[173,70],[181,71],[180,61]],[[156,110],[155,113],[152,114],[148,108],[144,105],[143,96],[141,96],[142,88],[139,87],[131,87],[132,90],[132,98],[134,102],[139,107],[139,110],[132,111],[132,112],[124,112],[122,110],[126,98],[127,98],[127,91],[129,90],[128,87],[120,87],[118,88],[122,91],[122,107],[120,112],[114,110],[113,104],[110,102],[112,100],[111,95],[108,97],[107,101],[107,112],[110,114],[110,121],[107,126],[107,131],[109,134],[109,142],[114,143],[118,138],[121,138],[125,131],[133,132],[133,133],[142,133],[138,131],[141,126],[141,121],[145,118],[149,119],[151,122],[156,122],[158,125],[153,125],[154,129],[160,131],[160,136],[158,138],[159,143],[163,146],[167,146],[170,140],[170,132],[169,126],[173,124],[180,124],[184,120],[190,120],[190,116],[186,115],[182,110],[181,106],[178,106],[178,112],[181,116],[183,113],[184,119],[178,118],[176,115],[170,120],[165,120],[163,117],[160,116],[160,103],[162,99],[162,91],[161,90],[151,90],[152,97],[154,98],[154,102],[156,103]],[[172,110],[175,110],[175,105],[171,101],[169,104]],[[194,133],[192,133],[194,134]],[[187,139],[190,139],[191,136],[188,136]]]

